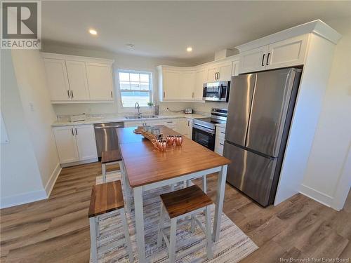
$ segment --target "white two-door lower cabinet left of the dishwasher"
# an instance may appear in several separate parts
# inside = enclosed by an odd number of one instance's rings
[[[60,163],[98,158],[93,125],[55,127],[53,133]]]

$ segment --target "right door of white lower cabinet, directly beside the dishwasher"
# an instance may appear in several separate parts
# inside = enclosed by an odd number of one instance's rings
[[[97,158],[94,127],[92,125],[74,126],[74,133],[77,139],[79,160]]]

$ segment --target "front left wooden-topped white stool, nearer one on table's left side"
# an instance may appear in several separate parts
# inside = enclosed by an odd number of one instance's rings
[[[124,228],[124,239],[128,251],[129,261],[133,262],[131,250],[131,238],[129,236],[126,213],[124,212],[124,200],[122,195],[121,181],[107,182],[93,186],[89,207],[89,224],[91,236],[91,257],[93,262],[98,262],[98,246],[96,239],[100,236],[99,216],[119,210],[119,215]],[[118,244],[120,245],[120,244]]]

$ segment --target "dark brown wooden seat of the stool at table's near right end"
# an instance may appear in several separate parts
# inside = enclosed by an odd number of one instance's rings
[[[160,197],[170,218],[185,215],[213,203],[211,198],[196,184],[178,191],[161,194]]]

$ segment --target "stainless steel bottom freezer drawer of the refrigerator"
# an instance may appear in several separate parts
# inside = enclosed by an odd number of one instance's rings
[[[223,156],[232,160],[227,182],[263,206],[270,203],[277,159],[270,159],[225,142]]]

